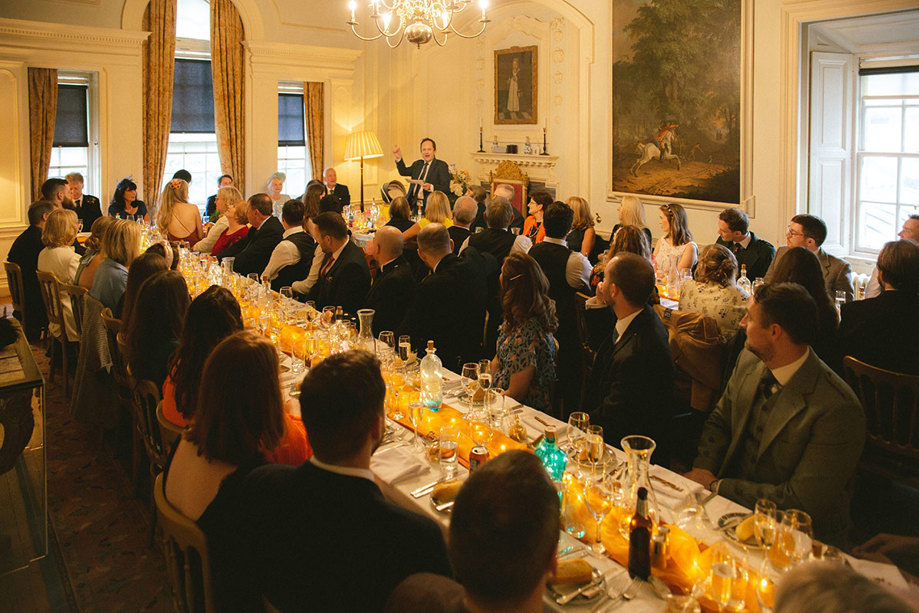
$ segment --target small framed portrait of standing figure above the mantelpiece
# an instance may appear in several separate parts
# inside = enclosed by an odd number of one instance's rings
[[[535,124],[536,47],[495,50],[495,124]]]

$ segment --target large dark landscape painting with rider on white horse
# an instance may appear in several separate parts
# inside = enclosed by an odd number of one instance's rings
[[[738,204],[742,0],[613,0],[612,189]]]

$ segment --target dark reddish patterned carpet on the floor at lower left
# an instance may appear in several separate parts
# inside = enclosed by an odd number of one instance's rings
[[[44,350],[32,353],[47,386],[49,513],[78,610],[172,611],[159,539],[151,548],[150,510],[135,496],[129,460],[71,419],[60,373],[50,383]],[[146,494],[146,480],[141,487]]]

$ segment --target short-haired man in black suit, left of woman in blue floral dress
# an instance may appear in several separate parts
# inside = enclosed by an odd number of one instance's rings
[[[415,292],[399,334],[412,337],[422,355],[434,341],[443,365],[457,370],[462,362],[478,359],[485,324],[485,271],[481,257],[453,255],[450,234],[439,223],[418,233],[418,257],[431,270]]]

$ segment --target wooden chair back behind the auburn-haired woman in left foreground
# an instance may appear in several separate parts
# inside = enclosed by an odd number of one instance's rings
[[[153,497],[156,501],[156,514],[163,527],[166,572],[172,584],[176,610],[185,613],[214,611],[207,537],[198,524],[179,513],[166,500],[162,473],[156,477]]]

